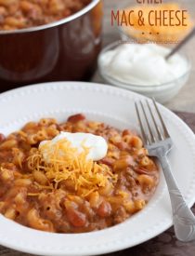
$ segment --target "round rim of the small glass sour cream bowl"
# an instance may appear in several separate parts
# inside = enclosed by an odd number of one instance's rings
[[[180,76],[178,76],[176,79],[173,79],[173,80],[171,80],[171,81],[169,81],[169,82],[165,82],[165,83],[163,83],[163,84],[161,84],[161,85],[157,85],[157,84],[154,84],[154,85],[138,85],[138,84],[133,84],[133,83],[127,83],[127,82],[123,82],[123,81],[121,81],[120,79],[117,79],[117,78],[115,78],[115,77],[112,77],[111,75],[109,75],[109,74],[106,74],[104,71],[103,71],[103,69],[102,69],[102,67],[101,67],[101,63],[100,63],[100,59],[101,59],[101,56],[105,53],[105,52],[107,52],[107,51],[109,51],[110,49],[112,49],[112,48],[115,48],[115,47],[117,47],[117,46],[120,46],[120,45],[125,45],[125,44],[131,44],[132,43],[132,41],[131,40],[118,40],[118,41],[115,41],[115,42],[113,42],[113,43],[111,43],[111,44],[109,44],[108,46],[106,46],[106,47],[104,47],[101,51],[100,51],[100,53],[99,53],[99,55],[98,55],[98,58],[97,58],[97,65],[98,65],[98,70],[99,70],[99,73],[101,74],[101,76],[104,78],[104,79],[107,79],[107,77],[110,79],[110,81],[113,81],[113,82],[116,82],[117,83],[117,86],[119,86],[120,87],[120,85],[121,86],[125,86],[125,87],[129,87],[129,88],[132,88],[132,89],[137,89],[137,88],[139,88],[139,89],[154,89],[154,88],[167,88],[167,87],[170,87],[172,84],[174,84],[174,83],[176,83],[177,81],[179,81],[179,80],[181,80],[182,78],[184,78],[187,74],[189,74],[190,73],[190,71],[191,71],[191,67],[192,67],[192,64],[191,64],[191,60],[190,60],[190,58],[189,58],[189,56],[188,55],[186,55],[186,54],[184,54],[182,51],[180,51],[178,54],[179,55],[181,55],[184,59],[185,59],[185,61],[187,62],[187,70],[186,70],[186,72],[184,73],[184,74],[182,74],[182,75],[180,75]],[[135,44],[135,43],[134,43]],[[136,43],[137,45],[141,45],[140,43]],[[155,43],[151,43],[150,42],[150,44],[155,44]],[[155,44],[156,45],[156,44]],[[167,47],[168,48],[168,47]],[[108,80],[107,80],[108,81]],[[116,85],[116,84],[115,84]]]

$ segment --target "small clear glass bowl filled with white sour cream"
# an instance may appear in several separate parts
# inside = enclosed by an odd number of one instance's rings
[[[191,64],[177,53],[164,59],[170,48],[156,44],[117,41],[105,47],[98,57],[98,69],[110,85],[154,97],[156,101],[173,99],[187,83]]]

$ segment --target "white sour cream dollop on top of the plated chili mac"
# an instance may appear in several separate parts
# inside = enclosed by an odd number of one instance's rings
[[[48,158],[48,149],[44,147],[45,143],[49,142],[49,151],[52,150],[52,147],[55,147],[55,144],[58,141],[66,139],[71,142],[71,147],[76,148],[78,153],[82,153],[84,147],[89,148],[89,153],[87,159],[93,161],[100,160],[107,155],[108,144],[107,141],[101,137],[91,133],[84,132],[63,132],[61,131],[54,139],[51,141],[42,141],[39,144],[39,150],[41,150],[44,155],[45,160]],[[60,153],[59,153],[60,154]],[[66,154],[65,152],[63,154]]]

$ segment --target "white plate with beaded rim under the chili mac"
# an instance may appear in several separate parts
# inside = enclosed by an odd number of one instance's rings
[[[134,101],[144,99],[121,88],[61,82],[15,89],[0,95],[0,131],[8,134],[30,120],[84,113],[118,128],[136,128]],[[189,206],[195,201],[195,136],[172,112],[161,106],[175,149],[170,155],[176,181]],[[36,231],[0,215],[0,244],[42,255],[94,255],[140,244],[172,225],[168,191],[161,182],[150,203],[132,218],[108,229],[77,235]]]

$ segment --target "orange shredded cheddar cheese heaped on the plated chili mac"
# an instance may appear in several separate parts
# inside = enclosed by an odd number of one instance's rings
[[[32,170],[44,172],[49,187],[53,185],[58,188],[59,182],[71,181],[74,190],[79,195],[86,196],[97,191],[99,187],[105,187],[108,182],[111,185],[117,182],[117,175],[108,166],[87,158],[89,150],[83,146],[83,151],[78,152],[65,139],[55,144],[48,141],[37,154],[28,158],[28,166]]]

